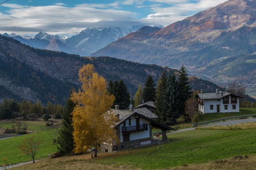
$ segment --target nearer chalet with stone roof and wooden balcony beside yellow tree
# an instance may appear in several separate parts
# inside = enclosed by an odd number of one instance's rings
[[[120,142],[113,143],[112,148],[107,149],[108,152],[151,144],[153,142],[152,128],[162,130],[163,140],[167,140],[167,130],[174,130],[156,121],[158,117],[146,107],[135,109],[132,107],[128,110],[111,109],[111,111],[119,119],[115,129]]]

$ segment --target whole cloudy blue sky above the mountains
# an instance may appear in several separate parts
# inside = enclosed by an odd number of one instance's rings
[[[72,36],[88,27],[167,26],[225,1],[8,0],[0,4],[0,34]]]

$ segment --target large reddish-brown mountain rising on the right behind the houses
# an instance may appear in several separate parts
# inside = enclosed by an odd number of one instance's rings
[[[256,96],[256,0],[228,0],[162,29],[143,27],[91,56],[170,68],[219,85],[240,82]]]

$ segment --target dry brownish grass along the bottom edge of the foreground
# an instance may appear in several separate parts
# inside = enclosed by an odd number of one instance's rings
[[[101,154],[102,155],[102,154]],[[55,160],[40,161],[36,164],[30,164],[13,170],[138,170],[137,168],[113,167],[108,165],[102,165],[96,163],[96,161],[90,161],[85,156],[74,156],[56,158]],[[183,166],[167,168],[165,170],[254,170],[255,169],[256,156],[250,156],[248,158],[232,157],[229,159],[223,159],[218,161],[210,161],[200,164],[184,164]]]

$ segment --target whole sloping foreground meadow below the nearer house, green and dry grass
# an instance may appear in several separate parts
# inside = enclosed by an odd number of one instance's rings
[[[256,156],[256,129],[194,130],[168,135],[168,138],[171,141],[160,145],[159,149],[157,145],[152,145],[117,153],[101,153],[98,158],[93,160],[90,159],[89,154],[84,154],[44,160],[35,165],[26,165],[18,169],[33,170],[37,166],[37,169],[55,167],[56,170],[74,170],[83,169],[82,167],[87,165],[91,166],[91,170],[169,169],[179,166],[178,170],[184,170],[188,167],[192,169],[192,167],[206,165],[216,168],[216,166],[228,163],[225,166],[230,168],[234,157],[238,155],[241,155],[244,161],[256,160],[246,159],[246,157],[255,158]],[[235,161],[237,162],[237,160]],[[72,168],[72,165],[76,168]]]

